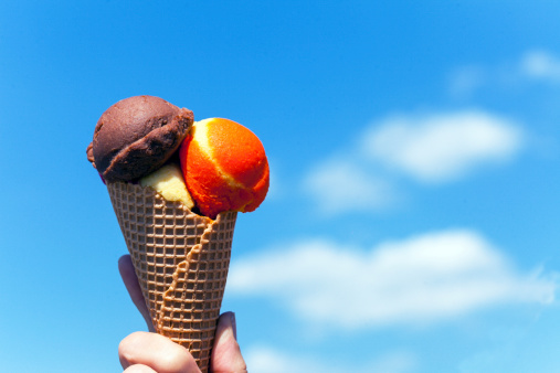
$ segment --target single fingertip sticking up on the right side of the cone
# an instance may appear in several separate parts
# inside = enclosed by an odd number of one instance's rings
[[[246,373],[247,366],[237,344],[235,315],[225,312],[218,319],[214,348],[210,359],[213,373]]]

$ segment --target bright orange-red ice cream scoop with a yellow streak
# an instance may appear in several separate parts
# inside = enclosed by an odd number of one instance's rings
[[[196,122],[179,148],[181,169],[200,212],[254,211],[268,191],[264,147],[242,125],[222,118]]]

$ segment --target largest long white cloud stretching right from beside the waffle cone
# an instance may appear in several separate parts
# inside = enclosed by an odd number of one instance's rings
[[[444,231],[360,251],[309,241],[232,263],[232,296],[267,297],[309,323],[423,323],[509,302],[549,303],[556,279],[519,274],[484,237]]]

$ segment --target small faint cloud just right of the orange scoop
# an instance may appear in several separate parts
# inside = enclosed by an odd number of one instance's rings
[[[304,180],[306,193],[318,200],[321,213],[336,214],[348,210],[378,210],[393,202],[391,185],[377,178],[357,161],[331,159]]]

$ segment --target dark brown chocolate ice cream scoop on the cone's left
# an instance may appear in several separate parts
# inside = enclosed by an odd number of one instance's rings
[[[176,152],[192,122],[191,110],[162,98],[125,98],[97,121],[87,159],[105,181],[139,179],[156,171]]]

